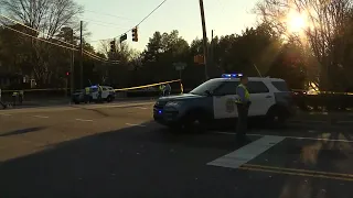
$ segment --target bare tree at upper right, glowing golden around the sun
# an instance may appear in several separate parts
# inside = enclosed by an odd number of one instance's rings
[[[347,31],[352,8],[352,0],[264,0],[257,4],[256,12],[261,21],[291,37],[295,35],[288,32],[284,21],[288,12],[296,11],[307,16],[308,26],[301,38],[304,38],[311,50],[310,55],[319,63],[320,87],[329,88],[329,74],[338,67],[334,62],[338,58],[332,53],[340,50],[335,46],[335,40]]]

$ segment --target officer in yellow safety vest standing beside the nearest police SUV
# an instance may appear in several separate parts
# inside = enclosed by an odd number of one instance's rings
[[[237,111],[238,111],[238,122],[236,129],[236,140],[239,142],[247,141],[246,130],[247,130],[247,114],[250,107],[250,95],[247,90],[248,78],[246,76],[240,77],[240,84],[236,88],[236,95],[238,96],[236,100]]]

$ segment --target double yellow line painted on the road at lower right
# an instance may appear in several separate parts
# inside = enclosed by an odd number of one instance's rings
[[[255,165],[255,164],[244,164],[239,167],[239,169],[353,182],[353,175],[351,174],[315,172],[315,170],[309,170],[309,169],[284,168],[284,167],[263,166],[263,165]]]

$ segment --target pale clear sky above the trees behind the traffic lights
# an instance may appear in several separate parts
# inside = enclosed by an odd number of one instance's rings
[[[86,37],[96,50],[99,40],[113,38],[137,25],[163,0],[75,0],[84,7],[79,16],[90,32]],[[214,35],[242,33],[255,25],[256,15],[252,13],[257,0],[204,0],[207,37]],[[131,31],[127,42],[132,48],[143,51],[149,37],[156,31],[178,30],[189,43],[202,38],[199,0],[167,0],[152,15],[139,25],[139,42],[132,42]]]

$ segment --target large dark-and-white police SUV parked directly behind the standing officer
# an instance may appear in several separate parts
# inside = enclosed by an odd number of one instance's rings
[[[207,125],[237,118],[236,87],[242,74],[224,74],[210,79],[189,94],[161,97],[153,107],[154,121],[171,128]],[[295,114],[291,91],[284,79],[249,77],[247,89],[252,106],[249,118],[263,118],[269,124],[282,124]],[[261,119],[261,120],[263,120]]]

